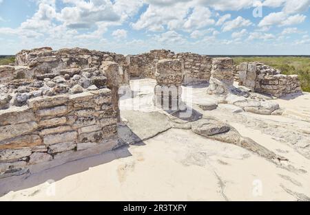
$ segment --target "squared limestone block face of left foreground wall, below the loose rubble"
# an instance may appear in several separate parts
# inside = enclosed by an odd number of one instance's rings
[[[0,111],[0,178],[33,173],[117,146],[110,89],[43,96]]]

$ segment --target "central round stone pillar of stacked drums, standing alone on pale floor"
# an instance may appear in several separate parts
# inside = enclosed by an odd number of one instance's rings
[[[158,60],[154,89],[154,104],[165,111],[185,110],[182,102],[181,84],[184,78],[183,63],[180,60]]]

